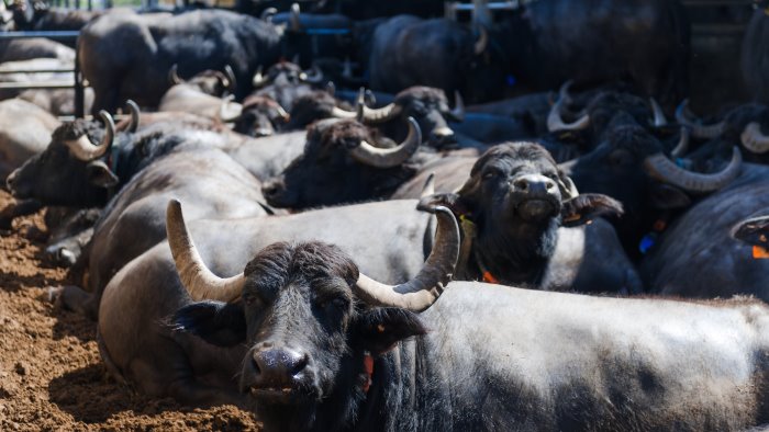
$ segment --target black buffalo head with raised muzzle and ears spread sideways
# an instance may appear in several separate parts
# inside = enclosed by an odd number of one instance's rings
[[[476,236],[472,261],[479,269],[468,270],[468,277],[489,271],[510,284],[538,282],[555,252],[559,226],[622,213],[621,205],[608,196],[579,195],[550,154],[534,143],[492,147],[478,159],[458,192],[420,202],[421,208],[435,205],[445,205],[471,221],[475,232],[465,235]]]

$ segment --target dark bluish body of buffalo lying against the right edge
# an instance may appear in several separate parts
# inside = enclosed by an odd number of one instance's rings
[[[769,167],[746,163],[727,187],[671,224],[643,263],[648,287],[665,295],[748,294],[768,300],[769,260],[735,238],[735,227],[743,220],[767,214],[768,178]]]

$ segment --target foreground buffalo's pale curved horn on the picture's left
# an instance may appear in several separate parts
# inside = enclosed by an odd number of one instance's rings
[[[205,266],[187,230],[185,215],[181,213],[181,203],[177,200],[168,202],[166,235],[176,263],[176,271],[179,273],[181,284],[185,285],[193,300],[232,302],[241,296],[245,276],[241,273],[233,277],[222,278]]]

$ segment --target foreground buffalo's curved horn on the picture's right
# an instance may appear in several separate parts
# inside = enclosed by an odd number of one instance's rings
[[[392,306],[413,311],[427,309],[438,299],[452,280],[459,257],[459,227],[452,211],[435,207],[438,227],[435,247],[420,273],[400,285],[387,285],[360,273],[355,285],[358,298],[372,306]]]

